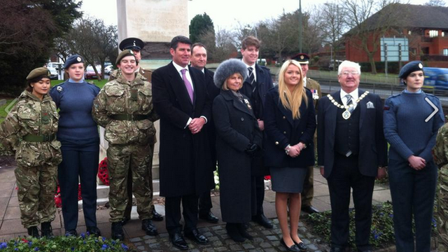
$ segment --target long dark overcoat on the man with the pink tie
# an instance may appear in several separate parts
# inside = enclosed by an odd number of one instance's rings
[[[160,115],[160,195],[200,195],[213,188],[207,130],[192,134],[189,118],[211,117],[204,74],[188,66],[193,103],[173,63],[153,72],[153,104]]]

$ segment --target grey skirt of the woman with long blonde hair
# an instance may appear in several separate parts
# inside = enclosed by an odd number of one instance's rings
[[[279,193],[302,193],[306,168],[270,167],[272,190]]]

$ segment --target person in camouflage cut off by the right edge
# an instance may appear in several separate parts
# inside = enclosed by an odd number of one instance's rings
[[[448,116],[445,117],[448,121]],[[437,251],[448,251],[448,123],[439,129],[433,148],[435,164],[439,167],[437,184]]]

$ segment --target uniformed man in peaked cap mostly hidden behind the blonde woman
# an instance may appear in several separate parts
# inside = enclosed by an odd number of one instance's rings
[[[307,77],[309,55],[306,53],[299,53],[293,57],[300,63],[303,74],[303,85],[311,91],[313,97],[314,109],[316,109],[317,114],[317,104],[318,99],[322,97],[321,85],[316,80]],[[317,131],[316,131],[317,132]],[[314,148],[317,146],[317,134],[314,134]],[[308,167],[307,176],[305,177],[305,182],[303,184],[302,192],[302,211],[308,214],[318,213],[318,210],[311,205],[311,201],[314,196],[314,165]]]

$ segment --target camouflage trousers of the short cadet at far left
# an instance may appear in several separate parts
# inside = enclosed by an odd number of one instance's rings
[[[54,221],[57,166],[18,165],[14,173],[22,225],[30,228],[39,223]]]

